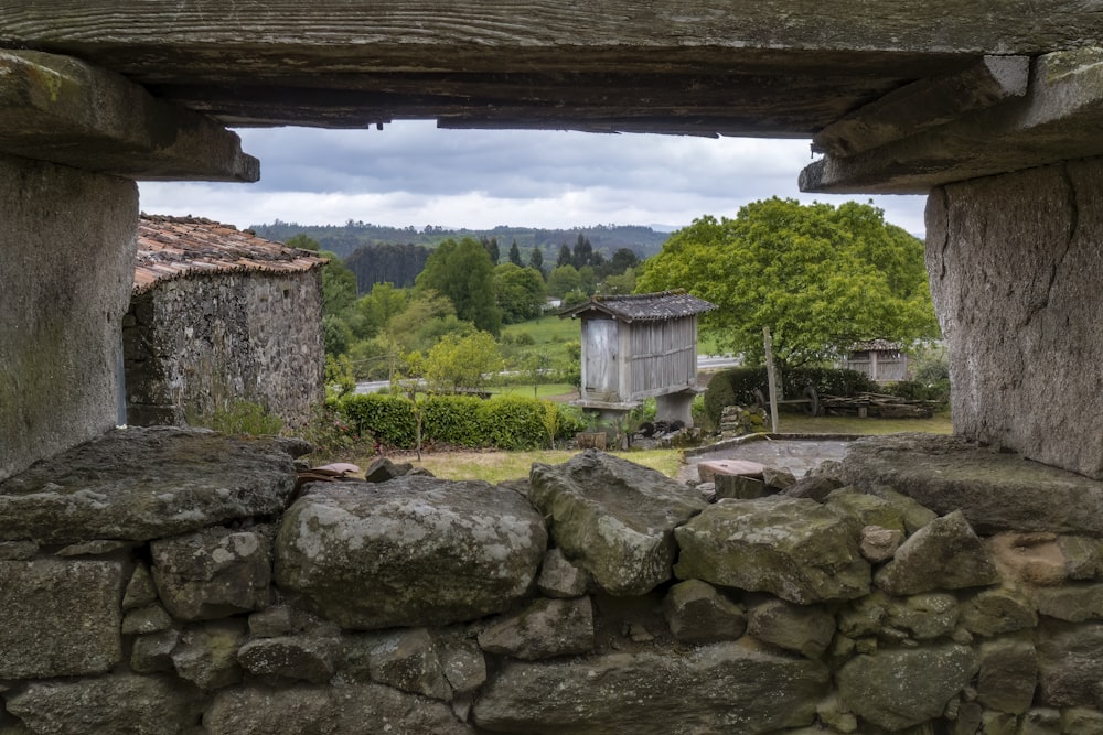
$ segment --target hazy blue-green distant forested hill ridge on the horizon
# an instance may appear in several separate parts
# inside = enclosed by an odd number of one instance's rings
[[[433,248],[449,238],[472,237],[497,238],[503,261],[510,246],[516,240],[517,248],[526,257],[534,247],[545,251],[545,262],[550,255],[552,263],[559,253],[559,246],[574,247],[579,235],[587,238],[596,251],[611,256],[620,248],[632,250],[639,258],[649,258],[658,252],[670,233],[635,225],[598,225],[596,227],[572,227],[570,229],[540,229],[536,227],[505,227],[494,229],[445,229],[429,225],[424,229],[410,227],[385,227],[362,221],[344,225],[300,225],[277,219],[270,225],[251,225],[249,229],[269,240],[285,241],[300,233],[318,240],[323,250],[332,250],[346,258],[355,250],[374,245],[421,245]]]

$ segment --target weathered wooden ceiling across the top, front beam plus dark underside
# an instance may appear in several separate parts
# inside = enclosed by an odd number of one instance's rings
[[[0,46],[78,56],[237,125],[807,136],[983,54],[1101,40],[1091,0],[15,0],[0,13]]]

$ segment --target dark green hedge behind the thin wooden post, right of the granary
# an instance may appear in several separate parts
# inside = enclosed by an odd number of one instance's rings
[[[778,397],[800,398],[804,388],[812,386],[821,396],[854,396],[863,391],[878,391],[878,385],[864,372],[833,368],[790,368],[781,372],[782,390]],[[708,381],[705,391],[705,413],[714,424],[720,423],[726,406],[750,406],[754,390],[769,398],[769,380],[764,367],[740,367],[721,370]]]

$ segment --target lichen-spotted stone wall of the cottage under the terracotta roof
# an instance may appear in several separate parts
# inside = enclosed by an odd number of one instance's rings
[[[159,283],[124,318],[127,421],[183,424],[234,401],[301,425],[324,397],[317,270]]]

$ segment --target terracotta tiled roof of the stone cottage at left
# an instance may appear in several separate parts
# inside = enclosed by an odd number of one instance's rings
[[[315,252],[289,248],[233,225],[202,217],[142,214],[138,219],[133,293],[196,273],[293,273],[324,262],[325,258]]]

